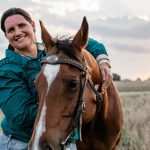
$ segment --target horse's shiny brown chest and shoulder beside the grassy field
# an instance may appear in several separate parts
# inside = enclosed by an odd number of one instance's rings
[[[83,142],[89,146],[96,143],[101,149],[109,147],[108,145],[115,145],[120,137],[122,125],[123,113],[120,98],[112,83],[104,93],[100,111],[96,112],[88,124],[83,124],[82,133],[85,139]]]

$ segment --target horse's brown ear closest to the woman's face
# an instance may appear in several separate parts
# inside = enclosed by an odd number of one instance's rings
[[[55,41],[52,39],[51,35],[48,33],[48,31],[44,27],[44,24],[41,20],[40,20],[40,26],[41,26],[41,37],[46,46],[46,49],[48,50],[49,47],[54,46]]]

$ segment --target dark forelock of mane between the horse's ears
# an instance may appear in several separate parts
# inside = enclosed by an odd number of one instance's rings
[[[55,46],[59,51],[63,51],[68,57],[78,60],[75,55],[75,50],[71,44],[73,37],[62,36],[62,37],[56,37],[54,38],[54,40],[56,41]]]

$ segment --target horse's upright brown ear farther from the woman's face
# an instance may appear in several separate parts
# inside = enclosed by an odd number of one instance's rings
[[[86,17],[84,17],[82,25],[72,41],[72,45],[81,51],[82,48],[86,46],[86,43],[88,41],[88,32],[89,32],[88,22],[86,20]]]

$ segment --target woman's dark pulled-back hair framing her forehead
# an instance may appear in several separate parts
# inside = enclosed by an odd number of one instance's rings
[[[6,18],[12,15],[17,15],[17,14],[23,16],[28,22],[30,23],[32,22],[31,16],[25,10],[21,8],[10,8],[6,10],[1,17],[1,29],[4,33],[6,32],[5,26],[4,26]]]

